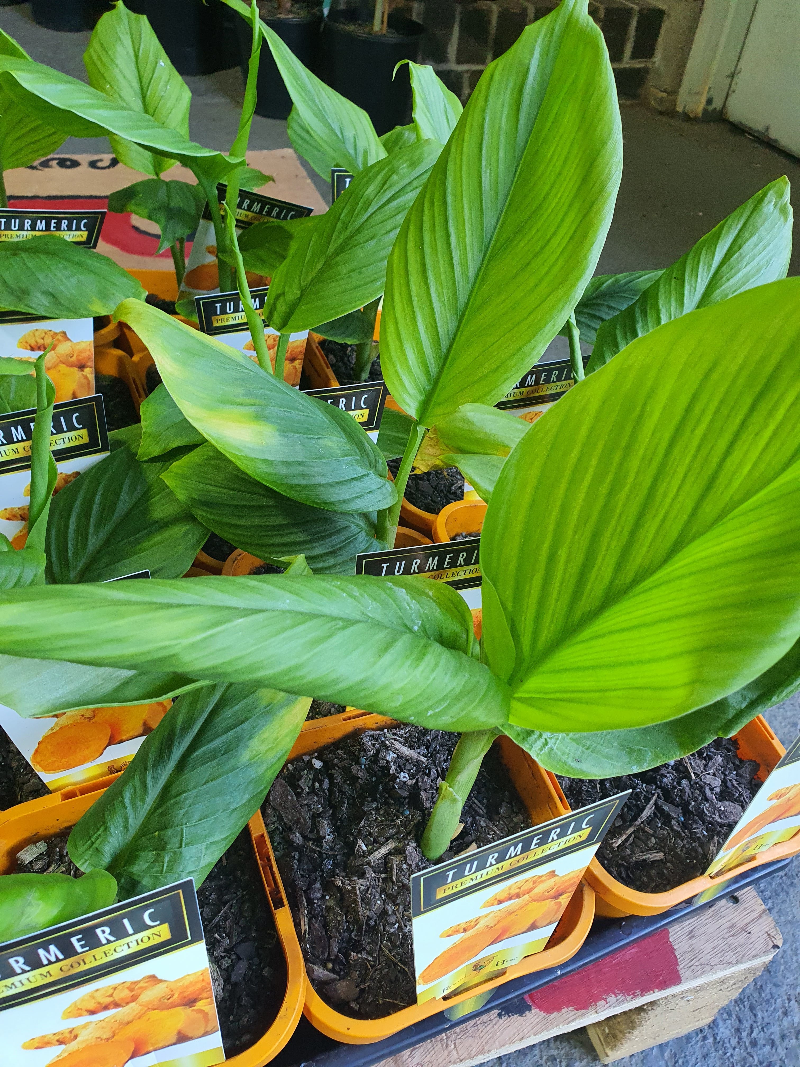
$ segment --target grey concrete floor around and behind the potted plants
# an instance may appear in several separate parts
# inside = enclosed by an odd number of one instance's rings
[[[81,54],[87,33],[53,33],[35,26],[28,4],[0,7],[0,27],[33,57],[84,78]],[[242,82],[238,69],[187,78],[192,91],[195,141],[227,150]],[[690,124],[625,106],[625,171],[598,273],[667,267],[758,189],[786,174],[800,190],[800,161],[733,126]],[[252,148],[289,145],[286,125],[256,117]],[[63,152],[108,152],[105,140],[70,140]],[[329,185],[306,166],[323,196]],[[793,194],[797,208],[798,192]],[[797,224],[796,224],[797,233]],[[790,274],[800,273],[796,241]],[[767,715],[784,745],[800,733],[800,696]],[[767,970],[715,1022],[624,1061],[624,1067],[800,1067],[800,863],[763,882],[759,892],[784,937]],[[566,1035],[489,1062],[489,1067],[594,1067],[597,1057],[582,1034]],[[446,1067],[446,1065],[443,1065]]]

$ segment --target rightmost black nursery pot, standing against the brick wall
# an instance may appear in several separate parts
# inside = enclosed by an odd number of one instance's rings
[[[379,136],[411,121],[411,79],[401,60],[416,62],[425,27],[401,15],[389,15],[388,33],[356,29],[358,14],[333,12],[325,20],[331,84],[364,108]]]

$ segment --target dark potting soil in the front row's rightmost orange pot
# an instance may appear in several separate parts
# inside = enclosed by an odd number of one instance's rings
[[[558,780],[571,808],[634,791],[597,859],[629,889],[662,893],[706,871],[761,789],[753,777],[758,764],[736,751],[733,738],[717,737],[693,755],[640,775]]]

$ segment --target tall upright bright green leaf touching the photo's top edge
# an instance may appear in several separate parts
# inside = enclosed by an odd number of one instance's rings
[[[622,136],[586,9],[563,0],[486,67],[389,256],[381,366],[425,426],[462,403],[496,403],[594,270]]]

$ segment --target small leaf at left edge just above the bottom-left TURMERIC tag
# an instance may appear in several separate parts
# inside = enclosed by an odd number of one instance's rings
[[[105,871],[82,878],[66,874],[10,874],[0,878],[0,941],[58,926],[116,897],[116,881]]]

